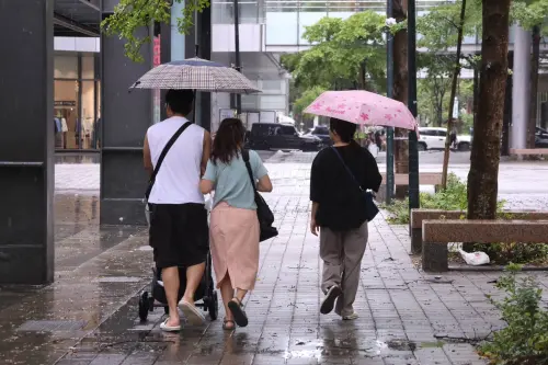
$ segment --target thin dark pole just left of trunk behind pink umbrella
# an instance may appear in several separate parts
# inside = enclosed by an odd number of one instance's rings
[[[386,0],[386,18],[392,18],[392,0]],[[386,95],[393,96],[393,36],[390,31],[386,34]],[[386,128],[386,204],[392,202],[393,196],[393,128]]]

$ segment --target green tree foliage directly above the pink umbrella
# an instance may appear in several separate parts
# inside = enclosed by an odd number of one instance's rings
[[[386,19],[373,11],[346,20],[324,18],[304,34],[313,46],[297,56],[286,57],[284,66],[305,89],[381,88],[385,78]]]

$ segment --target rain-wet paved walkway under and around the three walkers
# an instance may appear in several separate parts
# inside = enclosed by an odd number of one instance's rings
[[[261,243],[258,284],[246,300],[249,327],[222,331],[219,313],[165,334],[161,308],[140,322],[138,296],[151,267],[146,231],[100,228],[98,167],[60,164],[56,282],[0,289],[0,364],[484,364],[473,345],[504,324],[486,298],[501,295],[492,284],[499,274],[425,275],[409,255],[408,228],[381,217],[369,225],[359,319],[320,316],[319,244],[308,232],[311,156],[265,159],[275,192],[264,196],[281,233]],[[546,274],[534,275],[548,285]]]

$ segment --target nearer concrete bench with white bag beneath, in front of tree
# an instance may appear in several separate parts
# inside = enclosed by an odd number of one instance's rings
[[[449,242],[545,243],[548,220],[424,220],[422,223],[422,269],[445,272]]]

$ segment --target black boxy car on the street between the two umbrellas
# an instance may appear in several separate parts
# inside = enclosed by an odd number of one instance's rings
[[[255,123],[249,134],[249,147],[255,150],[318,151],[321,139],[300,136],[295,126],[279,123]]]

